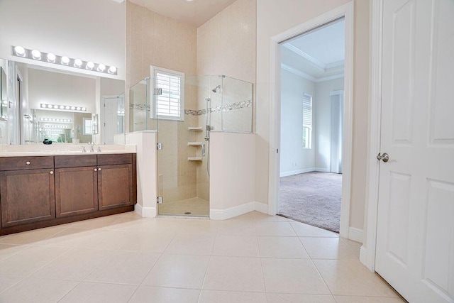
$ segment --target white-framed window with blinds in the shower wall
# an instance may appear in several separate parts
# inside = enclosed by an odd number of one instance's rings
[[[155,76],[153,93],[155,117],[184,120],[184,74],[160,67],[152,67]]]

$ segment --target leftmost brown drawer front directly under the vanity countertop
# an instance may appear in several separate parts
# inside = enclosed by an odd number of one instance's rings
[[[53,156],[0,158],[0,170],[40,170],[53,167]]]

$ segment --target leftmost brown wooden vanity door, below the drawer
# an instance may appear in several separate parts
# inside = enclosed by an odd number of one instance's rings
[[[0,172],[1,226],[55,219],[52,169]]]

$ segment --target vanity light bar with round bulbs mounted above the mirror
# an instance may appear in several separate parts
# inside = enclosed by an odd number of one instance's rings
[[[22,46],[12,46],[12,53],[16,57],[25,57],[32,60],[75,67],[81,70],[92,70],[94,72],[101,72],[102,74],[117,75],[117,69],[113,65],[108,66],[102,63],[80,60],[79,58],[43,53],[39,50],[28,50]]]

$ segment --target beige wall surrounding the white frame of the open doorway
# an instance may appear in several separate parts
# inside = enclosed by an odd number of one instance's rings
[[[258,0],[257,2],[257,94],[255,199],[268,202],[270,143],[270,38],[309,21],[347,0]],[[355,0],[355,57],[353,60],[353,169],[350,224],[363,227],[367,153],[367,98],[369,79],[369,1]]]

